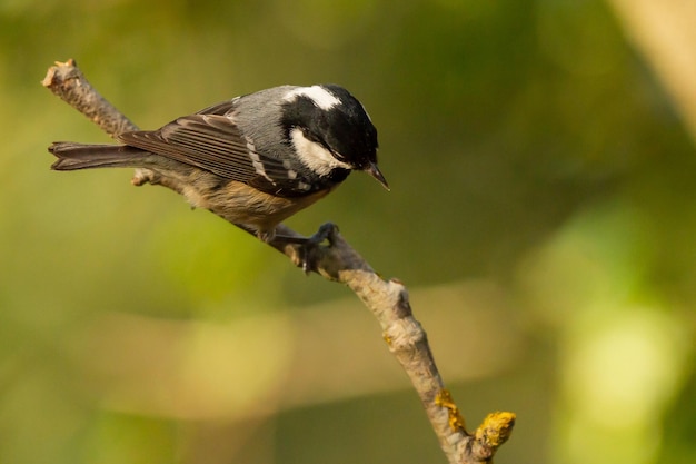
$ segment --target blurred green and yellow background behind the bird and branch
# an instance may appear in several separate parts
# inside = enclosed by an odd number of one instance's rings
[[[0,0],[0,463],[446,462],[348,289],[128,170],[49,170],[108,141],[39,83],[68,58],[142,128],[346,86],[391,192],[289,225],[409,286],[469,428],[518,414],[496,462],[693,463],[695,42],[658,46],[696,12],[648,3]]]

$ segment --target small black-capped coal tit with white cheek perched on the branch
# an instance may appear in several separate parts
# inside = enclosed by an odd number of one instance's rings
[[[117,139],[120,145],[54,142],[51,168],[138,168],[133,184],[175,188],[191,206],[265,241],[351,170],[388,189],[377,167],[377,129],[362,105],[336,85],[275,87]]]

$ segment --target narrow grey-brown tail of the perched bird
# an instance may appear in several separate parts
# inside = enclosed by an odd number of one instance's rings
[[[137,168],[143,165],[148,151],[127,145],[89,145],[71,141],[57,141],[48,150],[58,160],[51,165],[54,170],[90,168]]]

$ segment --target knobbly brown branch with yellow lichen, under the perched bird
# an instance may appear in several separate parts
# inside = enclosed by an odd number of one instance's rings
[[[43,86],[78,111],[90,118],[111,137],[127,130],[137,130],[87,81],[73,60],[48,70]],[[175,179],[148,169],[137,169],[135,185],[159,184],[181,191]],[[302,237],[280,225],[280,236]],[[297,245],[272,241],[269,244],[300,264]],[[440,446],[451,464],[489,463],[497,448],[507,441],[515,424],[513,413],[493,413],[474,432],[465,428],[464,418],[440,377],[426,333],[412,315],[406,287],[397,279],[382,279],[370,265],[341,237],[336,227],[328,228],[328,245],[314,248],[304,257],[309,269],[325,278],[346,284],[372,312],[379,322],[389,351],[401,364],[411,379],[430,419]]]

